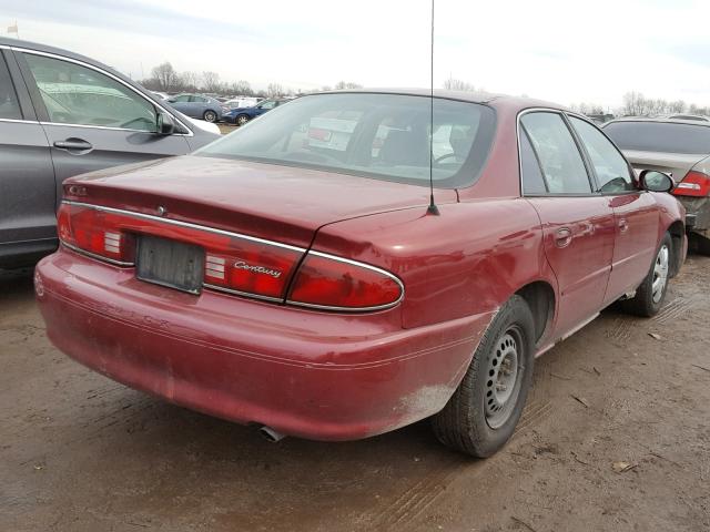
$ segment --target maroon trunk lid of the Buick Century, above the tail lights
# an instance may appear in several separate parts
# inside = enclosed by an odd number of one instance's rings
[[[70,192],[82,187],[81,195]],[[424,215],[429,200],[424,186],[201,156],[92,172],[69,180],[64,192],[75,202],[304,248],[323,225],[413,207]],[[457,201],[454,190],[437,190],[435,197],[437,203]]]

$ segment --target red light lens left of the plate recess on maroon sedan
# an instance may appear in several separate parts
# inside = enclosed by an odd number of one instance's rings
[[[62,204],[57,215],[57,232],[69,247],[128,266],[135,257],[135,239],[120,229],[120,219],[112,213]]]

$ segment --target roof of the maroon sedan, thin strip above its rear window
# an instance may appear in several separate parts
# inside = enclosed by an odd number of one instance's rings
[[[430,89],[345,89],[342,91],[326,91],[313,94],[403,94],[413,96],[429,96]],[[443,98],[448,100],[459,100],[471,103],[489,104],[494,108],[508,108],[511,110],[524,110],[530,108],[556,109],[560,111],[570,111],[568,108],[558,103],[547,102],[527,96],[510,96],[507,94],[496,94],[490,92],[468,92],[468,91],[449,91],[447,89],[434,89],[434,98]]]

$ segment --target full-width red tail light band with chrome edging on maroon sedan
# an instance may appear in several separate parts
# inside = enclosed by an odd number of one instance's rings
[[[141,234],[195,244],[205,250],[206,288],[288,305],[365,311],[404,296],[402,282],[375,266],[311,250],[296,269],[301,247],[140,213],[62,203],[58,232],[64,245],[119,266],[134,264]]]

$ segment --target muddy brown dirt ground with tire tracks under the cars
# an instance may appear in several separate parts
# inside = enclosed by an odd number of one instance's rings
[[[708,531],[709,289],[690,257],[658,317],[606,310],[538,359],[513,441],[471,460],[426,422],[273,444],[146,397],[52,348],[30,273],[3,275],[0,530]]]

